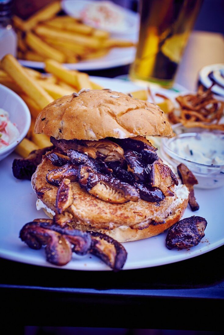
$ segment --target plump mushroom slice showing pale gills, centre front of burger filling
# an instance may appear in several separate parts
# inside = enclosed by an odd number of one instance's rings
[[[133,186],[112,176],[97,173],[88,166],[80,167],[79,184],[90,194],[107,202],[122,204],[139,199],[139,194]]]

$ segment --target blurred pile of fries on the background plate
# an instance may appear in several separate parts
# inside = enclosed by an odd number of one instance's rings
[[[44,62],[51,58],[60,63],[76,63],[103,57],[114,47],[134,45],[130,41],[112,39],[107,31],[70,16],[57,15],[60,11],[60,1],[54,1],[27,20],[13,17],[19,59]]]

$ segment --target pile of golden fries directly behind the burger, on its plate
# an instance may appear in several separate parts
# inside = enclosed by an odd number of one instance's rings
[[[12,89],[24,100],[32,117],[26,138],[15,149],[22,157],[27,157],[33,150],[52,145],[49,136],[34,133],[35,120],[45,106],[84,87],[103,88],[91,81],[87,73],[68,70],[53,59],[45,61],[45,71],[49,74],[41,74],[23,67],[12,55],[6,55],[0,64],[0,83]],[[132,95],[143,100],[148,98],[146,90],[132,92]]]

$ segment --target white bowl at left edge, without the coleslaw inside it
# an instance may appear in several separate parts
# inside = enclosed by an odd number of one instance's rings
[[[31,115],[24,101],[8,87],[0,84],[0,108],[9,114],[9,120],[16,124],[19,136],[5,148],[0,149],[0,160],[8,156],[26,136],[30,124]]]

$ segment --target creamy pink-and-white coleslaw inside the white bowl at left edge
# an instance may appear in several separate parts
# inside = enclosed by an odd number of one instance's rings
[[[0,150],[16,140],[18,136],[16,125],[9,120],[8,113],[0,108]]]

